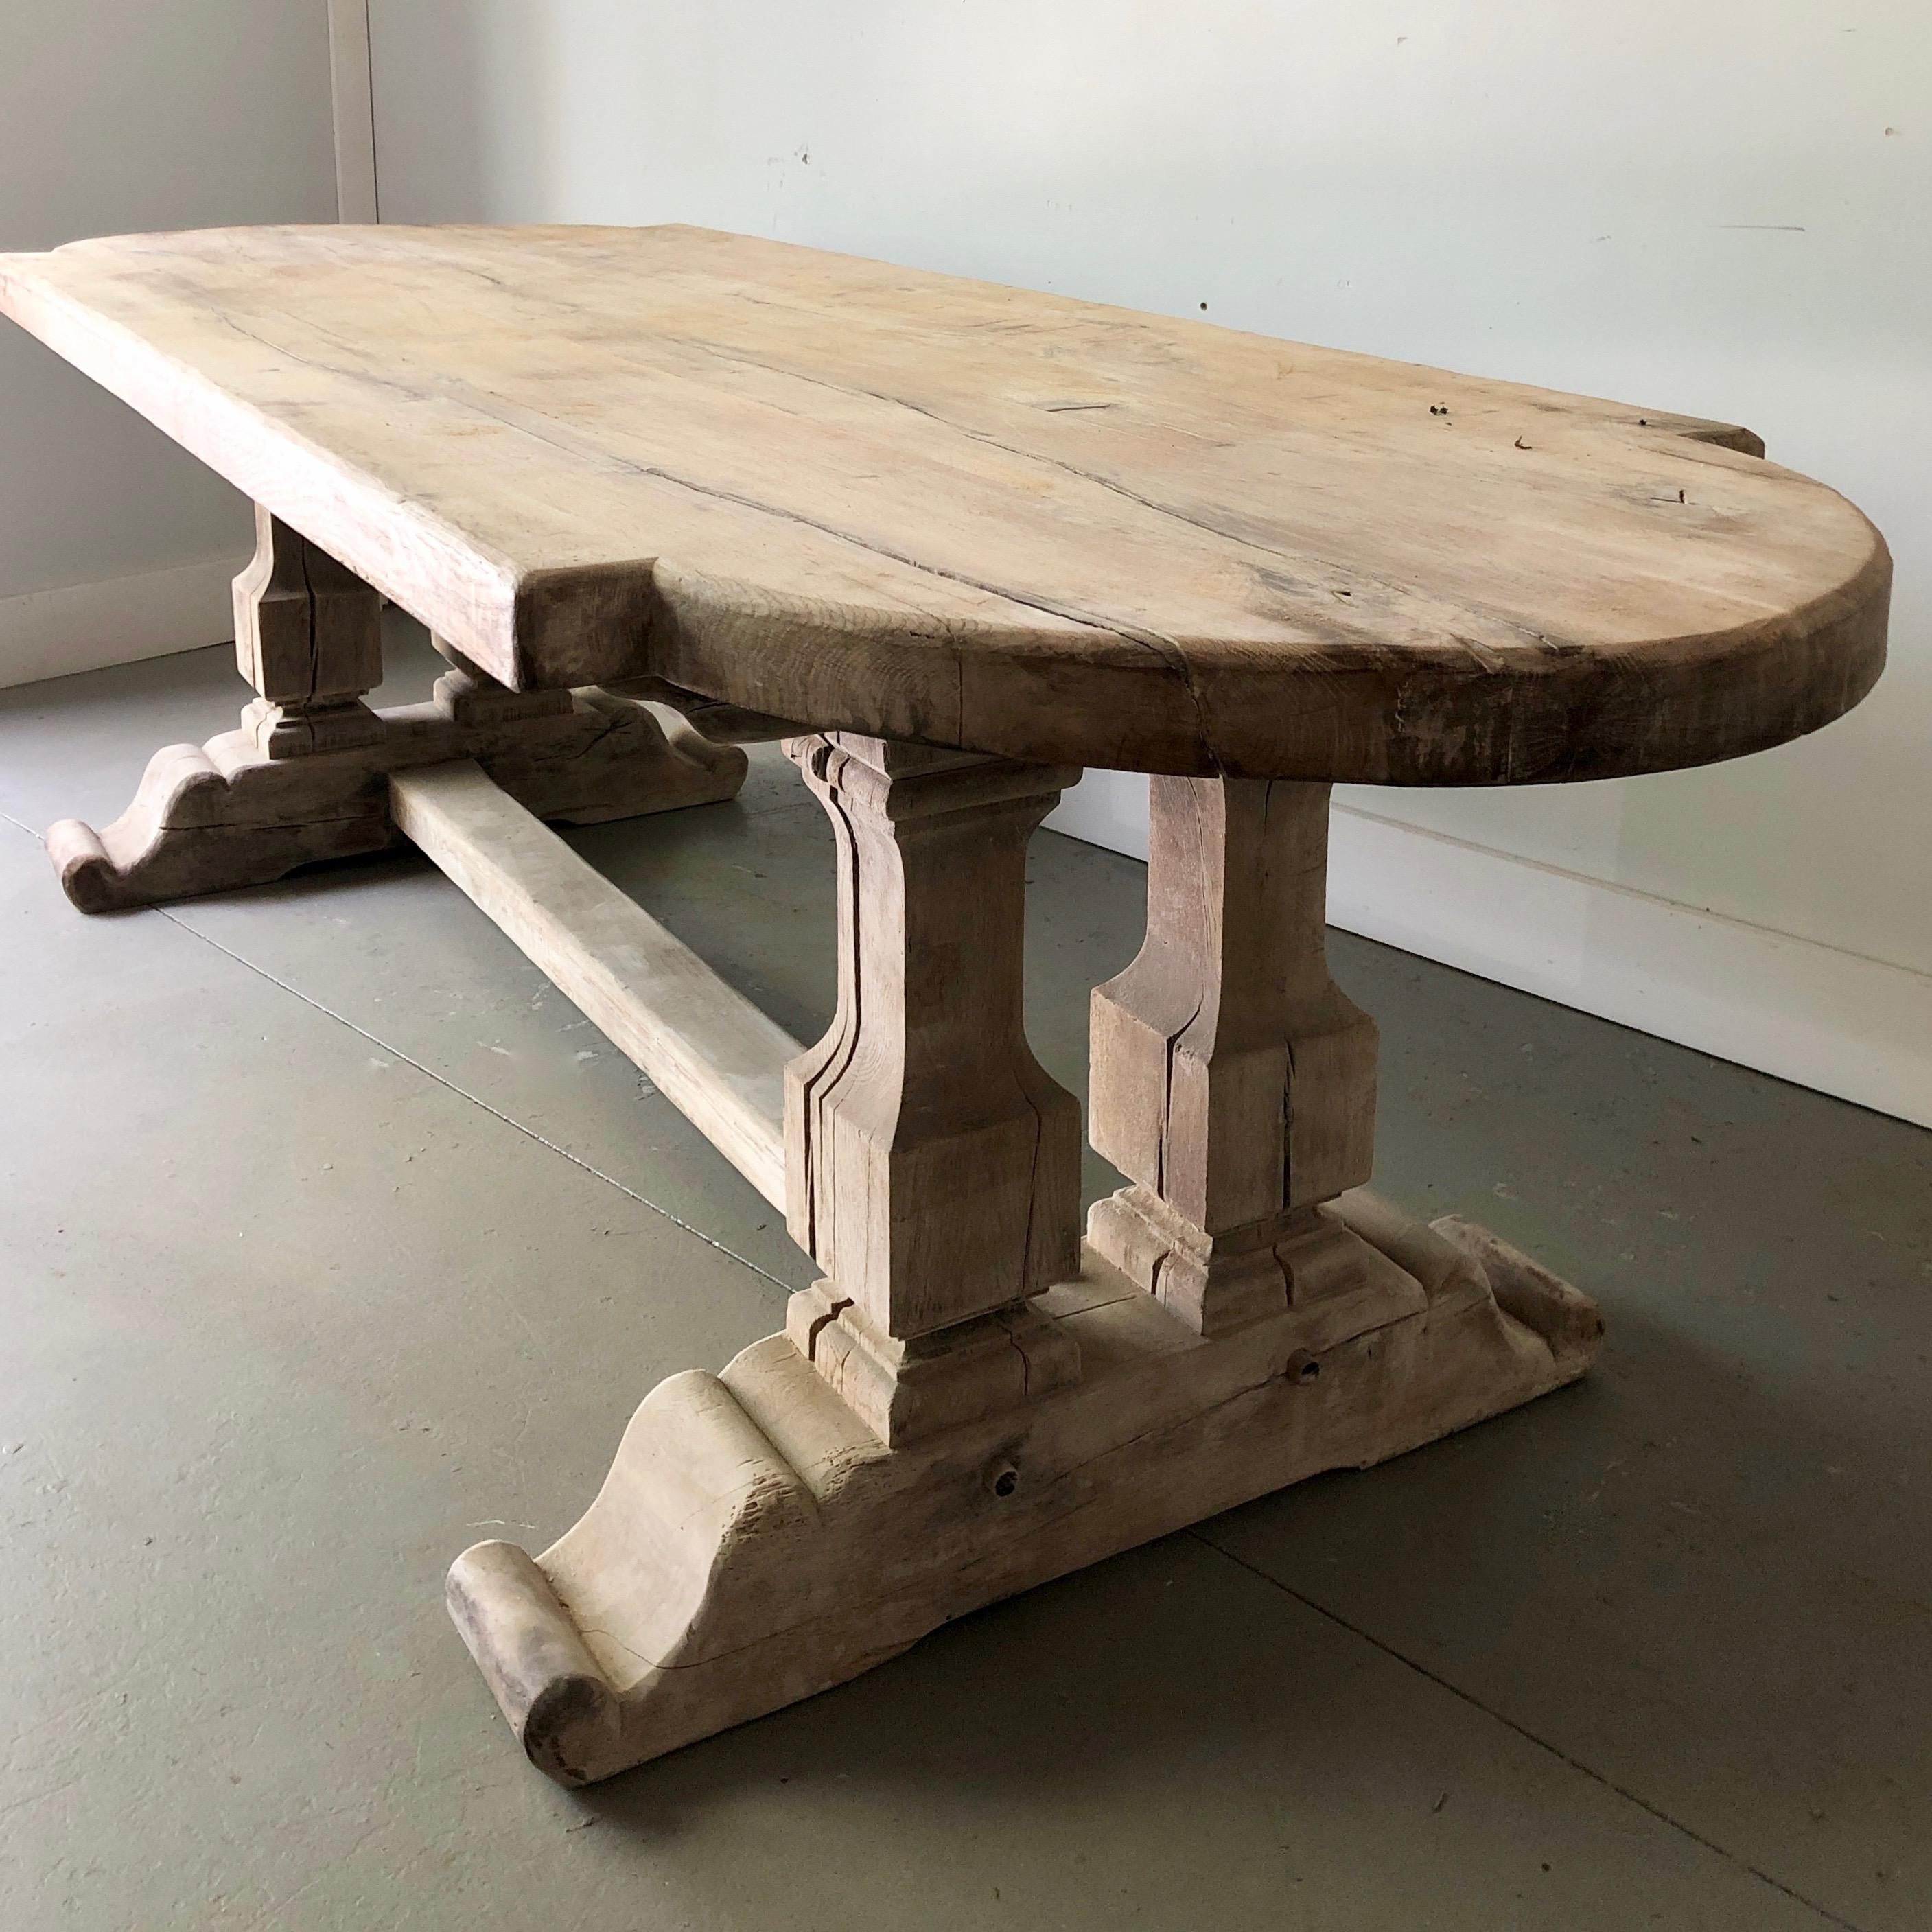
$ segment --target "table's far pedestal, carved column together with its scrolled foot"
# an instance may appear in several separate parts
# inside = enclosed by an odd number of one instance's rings
[[[383,599],[267,510],[236,578],[236,657],[259,694],[238,730],[156,752],[133,804],[95,831],[48,829],[81,912],[265,885],[400,844],[388,775],[475,759],[545,819],[589,823],[730,798],[746,759],[605,692],[508,692],[473,667],[431,703],[373,711]],[[454,655],[454,653],[446,653]]]

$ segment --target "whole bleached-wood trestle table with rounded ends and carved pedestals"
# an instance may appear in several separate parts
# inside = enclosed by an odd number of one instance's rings
[[[1580,1376],[1586,1296],[1362,1192],[1329,782],[1733,757],[1884,661],[1882,539],[1743,429],[1196,321],[690,228],[137,236],[0,257],[0,307],[259,504],[259,697],[52,829],[75,904],[408,837],[823,1269],[645,1397],[560,1542],[450,1571],[570,1783]],[[429,705],[363,703],[383,597],[450,659]],[[541,823],[726,798],[773,736],[838,846],[810,1049]],[[1155,773],[1084,1242],[1020,1022],[1082,765]]]

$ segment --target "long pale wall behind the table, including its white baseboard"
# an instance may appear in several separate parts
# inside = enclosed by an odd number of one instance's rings
[[[1847,491],[1899,560],[1893,665],[1862,711],[1714,771],[1354,792],[1335,916],[1932,1119],[1922,0],[371,17],[388,220],[688,220],[1206,301],[1242,328],[1733,417]],[[1132,846],[1132,781],[1095,788],[1072,823]],[[1764,981],[1754,1009],[1725,995],[1739,976]],[[1714,1020],[1741,1005],[1743,1030]]]

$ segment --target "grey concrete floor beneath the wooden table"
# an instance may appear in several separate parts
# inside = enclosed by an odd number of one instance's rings
[[[242,696],[222,651],[0,694],[0,1926],[1932,1926],[1932,1136],[1347,935],[1378,1184],[1590,1289],[1596,1374],[547,1783],[444,1565],[541,1548],[808,1269],[413,858],[66,906],[35,831]],[[823,1024],[777,757],[572,842]],[[1144,875],[1034,879],[1078,1088]]]

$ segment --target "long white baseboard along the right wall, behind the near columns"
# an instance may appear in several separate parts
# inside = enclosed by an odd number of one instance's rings
[[[1148,854],[1144,790],[1090,781],[1055,831]],[[1329,923],[1932,1126],[1932,974],[1337,806]]]

